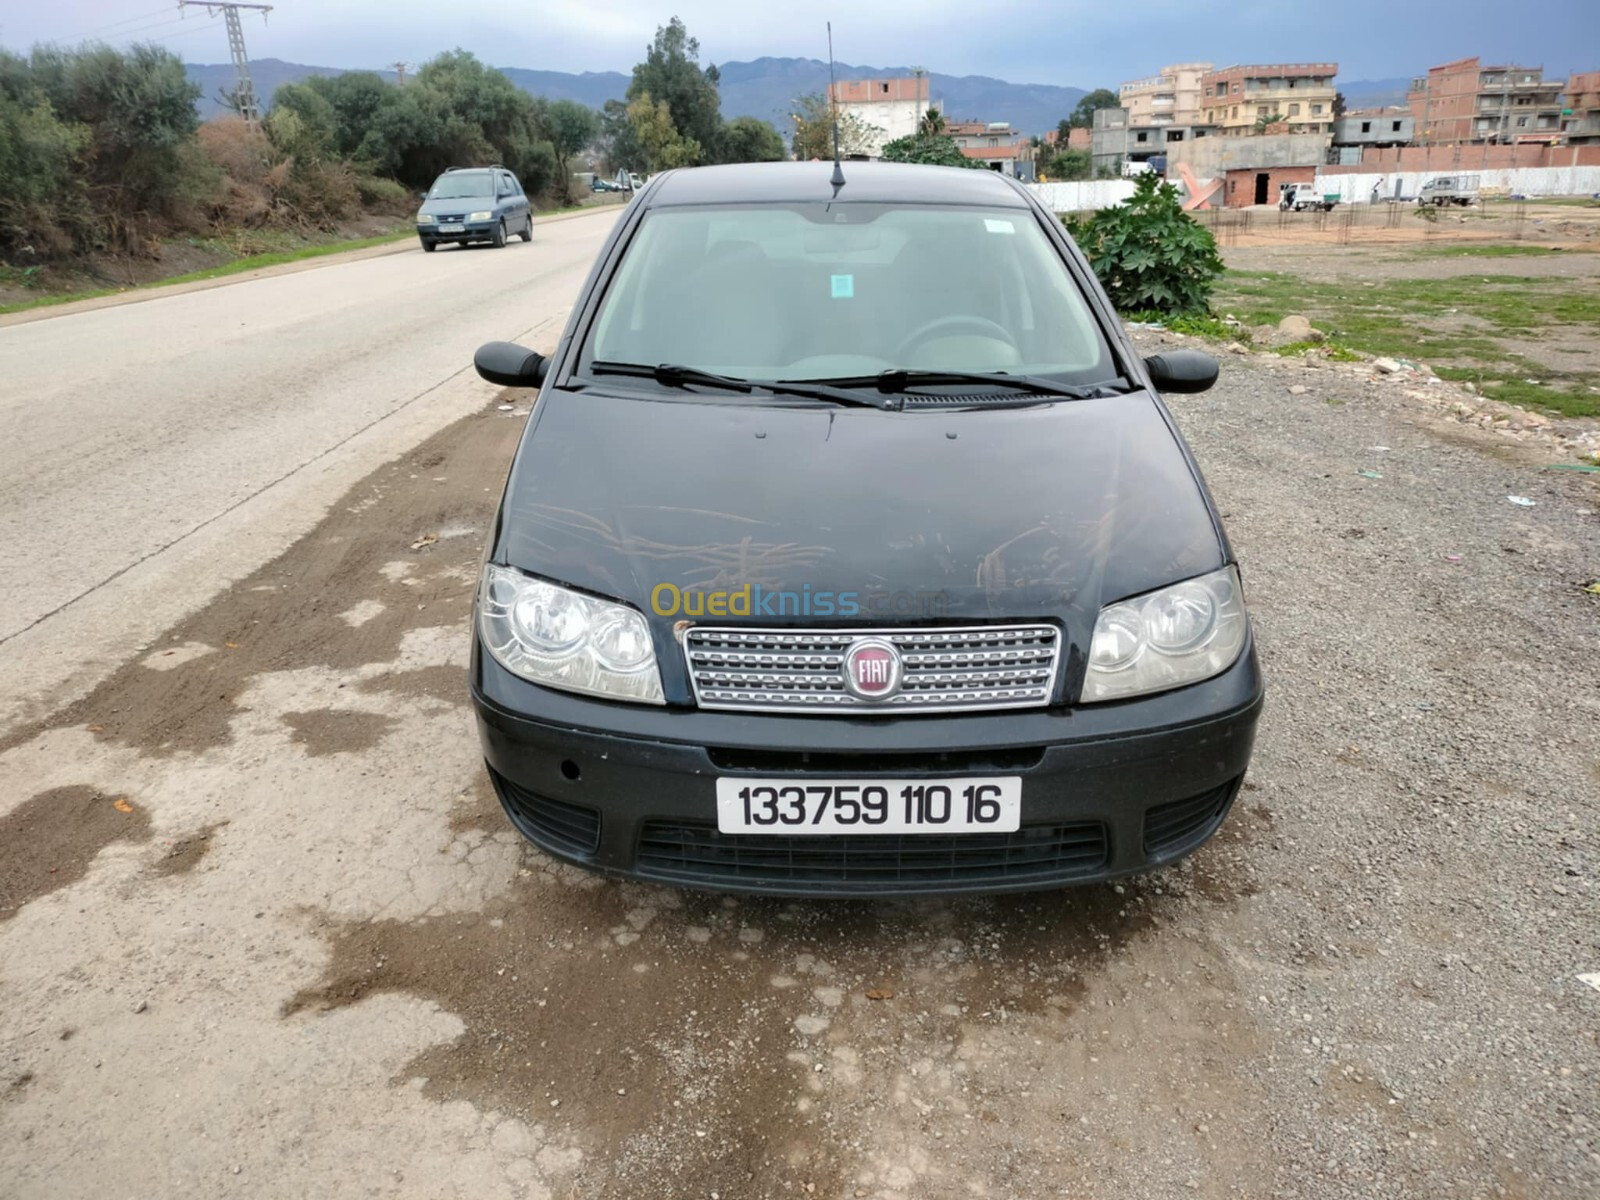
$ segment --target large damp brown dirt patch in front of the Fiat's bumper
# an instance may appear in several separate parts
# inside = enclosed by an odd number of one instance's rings
[[[486,781],[458,797],[454,830],[502,826]],[[1237,896],[1221,883],[1232,864],[1210,856],[1021,896],[800,902],[602,882],[530,846],[482,912],[326,925],[326,974],[285,1014],[381,992],[454,1013],[466,1032],[403,1077],[589,1146],[574,1195],[690,1181],[699,1195],[848,1195],[859,1125],[845,1114],[886,1086],[862,1064],[914,1045],[949,1053],[974,1027],[1070,1019],[1088,981],[1149,931]],[[837,1120],[827,1074],[851,1093]]]

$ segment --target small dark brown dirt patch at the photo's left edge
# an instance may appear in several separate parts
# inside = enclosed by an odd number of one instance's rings
[[[53,787],[0,818],[0,922],[75,883],[112,842],[147,842],[150,818],[126,797]]]

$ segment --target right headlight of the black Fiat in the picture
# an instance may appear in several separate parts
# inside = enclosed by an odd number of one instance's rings
[[[1090,640],[1083,702],[1166,691],[1219,675],[1234,666],[1248,627],[1234,566],[1107,605]]]

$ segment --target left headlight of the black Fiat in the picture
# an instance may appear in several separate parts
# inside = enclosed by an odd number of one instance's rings
[[[666,704],[650,626],[627,605],[490,563],[478,587],[478,634],[496,662],[534,683]]]

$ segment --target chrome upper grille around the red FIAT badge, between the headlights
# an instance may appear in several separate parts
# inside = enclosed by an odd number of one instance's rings
[[[883,701],[845,690],[843,662],[861,637],[891,642],[901,690]],[[694,699],[746,712],[973,712],[1050,702],[1061,659],[1054,626],[965,629],[712,629],[683,635]]]

